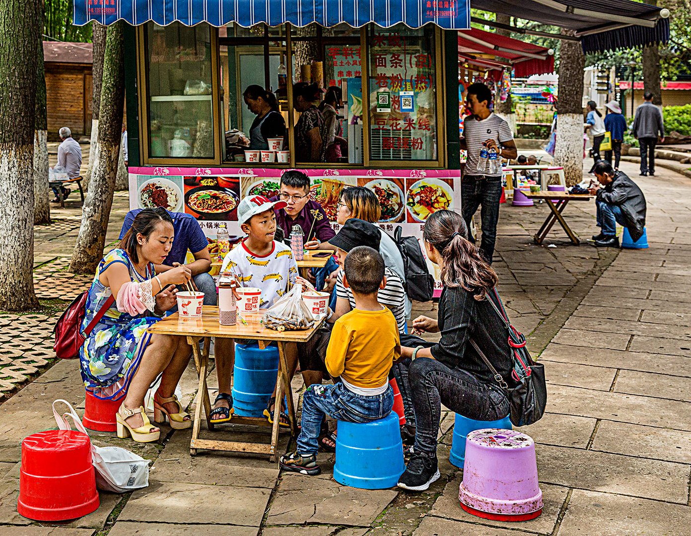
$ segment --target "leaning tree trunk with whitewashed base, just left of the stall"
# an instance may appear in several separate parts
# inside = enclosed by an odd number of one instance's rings
[[[124,106],[123,21],[108,26],[99,113],[100,155],[82,207],[82,226],[70,262],[75,274],[93,274],[103,258],[113,205]]]

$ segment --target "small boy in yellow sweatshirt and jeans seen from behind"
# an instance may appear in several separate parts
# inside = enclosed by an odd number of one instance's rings
[[[386,285],[384,259],[379,251],[359,246],[348,253],[343,271],[355,308],[336,320],[326,351],[326,370],[337,383],[307,388],[297,450],[280,460],[281,468],[303,475],[321,472],[316,452],[325,414],[367,423],[386,417],[393,407],[388,373],[401,356],[401,344],[396,319],[377,301],[377,292]]]

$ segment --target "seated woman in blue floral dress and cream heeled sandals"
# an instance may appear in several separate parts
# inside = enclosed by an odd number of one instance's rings
[[[144,396],[159,374],[154,396],[154,420],[168,417],[171,427],[189,428],[189,414],[173,394],[191,356],[182,336],[147,334],[146,329],[176,305],[175,285],[186,283],[184,266],[155,275],[173,243],[173,220],[165,209],[144,209],[131,229],[100,262],[86,301],[84,329],[111,295],[115,301],[79,350],[82,379],[100,399],[122,399],[115,418],[118,437],[156,441],[158,428],[144,412]]]

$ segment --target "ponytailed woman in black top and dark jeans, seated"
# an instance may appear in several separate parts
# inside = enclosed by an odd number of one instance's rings
[[[415,447],[398,486],[423,491],[439,479],[437,430],[442,403],[451,411],[476,421],[495,421],[509,414],[509,399],[475,350],[473,341],[506,378],[511,373],[507,329],[489,302],[497,274],[468,241],[463,218],[437,211],[423,229],[428,258],[442,270],[444,289],[438,320],[419,316],[413,332],[438,333],[439,343],[421,342],[401,347],[411,358],[409,379],[417,428]],[[401,345],[402,346],[402,345]]]

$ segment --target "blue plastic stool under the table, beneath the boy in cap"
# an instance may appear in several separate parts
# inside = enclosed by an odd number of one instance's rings
[[[233,408],[240,417],[263,417],[276,386],[278,347],[259,350],[257,344],[235,345]]]

